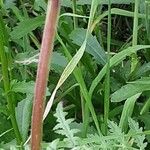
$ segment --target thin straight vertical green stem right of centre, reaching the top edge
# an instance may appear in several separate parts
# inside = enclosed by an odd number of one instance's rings
[[[104,124],[105,135],[108,130],[108,116],[109,116],[109,98],[110,98],[110,46],[111,46],[111,2],[108,4],[108,28],[107,28],[107,72],[105,78],[105,91],[104,91]]]

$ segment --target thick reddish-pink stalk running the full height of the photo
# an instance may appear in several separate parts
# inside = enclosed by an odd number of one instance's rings
[[[48,3],[41,51],[39,56],[31,127],[31,149],[40,150],[42,140],[42,119],[47,87],[49,64],[52,56],[54,37],[57,27],[60,0],[50,0]]]

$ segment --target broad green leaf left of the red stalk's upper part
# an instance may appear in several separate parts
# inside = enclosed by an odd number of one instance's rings
[[[13,28],[13,31],[10,33],[10,36],[13,40],[20,39],[25,35],[27,35],[28,33],[35,30],[37,27],[41,27],[43,24],[44,24],[43,16],[25,19],[24,21],[18,23],[18,26]]]

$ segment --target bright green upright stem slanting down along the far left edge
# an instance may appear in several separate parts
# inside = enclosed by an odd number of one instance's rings
[[[1,59],[1,65],[2,65],[2,76],[3,76],[3,82],[4,82],[4,90],[5,90],[5,96],[7,99],[8,104],[8,111],[10,115],[10,120],[12,123],[12,127],[16,136],[16,141],[18,145],[21,145],[22,138],[21,134],[19,132],[18,124],[16,121],[15,116],[15,107],[12,100],[12,95],[10,92],[10,78],[9,78],[9,71],[8,71],[8,59],[5,53],[5,46],[8,46],[7,44],[7,37],[6,37],[6,29],[5,25],[3,23],[2,16],[0,15],[0,59]],[[7,43],[7,44],[6,44]]]

